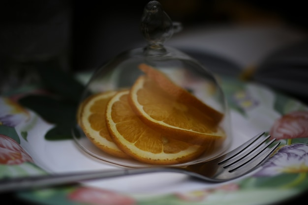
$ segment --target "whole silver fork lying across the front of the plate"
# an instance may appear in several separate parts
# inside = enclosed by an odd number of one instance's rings
[[[176,172],[197,177],[208,182],[224,182],[244,176],[258,167],[275,151],[279,142],[270,147],[275,139],[266,143],[271,137],[261,138],[264,132],[254,136],[234,150],[207,162],[185,167],[151,167],[139,169],[121,169],[83,173],[66,173],[48,176],[27,176],[0,180],[0,192],[33,189],[55,185],[64,185],[82,180],[102,179],[116,176],[137,175],[156,172]]]

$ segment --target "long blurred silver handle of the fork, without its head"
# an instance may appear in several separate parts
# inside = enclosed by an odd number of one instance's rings
[[[142,169],[122,169],[122,170],[108,170],[108,171],[94,171],[94,172],[77,172],[64,173],[46,176],[26,176],[16,178],[5,178],[0,180],[0,193],[9,191],[18,191],[24,189],[35,189],[41,187],[49,187],[56,185],[72,184],[83,180],[102,179],[116,176],[128,176],[137,174],[154,173],[160,171],[175,171],[172,168],[142,168]]]

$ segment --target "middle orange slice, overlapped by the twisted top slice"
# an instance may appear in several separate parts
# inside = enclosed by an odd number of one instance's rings
[[[174,140],[144,124],[128,103],[129,91],[119,91],[107,104],[106,122],[114,142],[133,158],[149,164],[183,163],[204,147]]]

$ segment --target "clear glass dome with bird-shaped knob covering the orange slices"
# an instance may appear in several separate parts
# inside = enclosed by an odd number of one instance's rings
[[[147,41],[98,68],[80,100],[74,139],[103,163],[138,168],[185,166],[222,154],[230,117],[215,76],[164,46],[181,24],[158,1],[141,18]]]

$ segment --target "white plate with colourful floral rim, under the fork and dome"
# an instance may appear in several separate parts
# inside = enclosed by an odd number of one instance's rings
[[[218,184],[183,174],[124,176],[17,192],[16,197],[48,205],[269,205],[308,191],[308,108],[257,84],[220,80],[231,110],[231,148],[261,131],[280,141],[257,171]],[[19,99],[30,94],[46,91],[28,87],[0,97],[0,178],[120,169],[85,155],[73,139],[57,133],[64,129],[59,121],[52,123],[51,115],[23,106]]]

